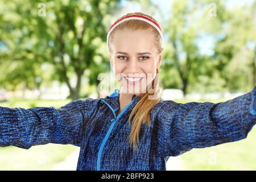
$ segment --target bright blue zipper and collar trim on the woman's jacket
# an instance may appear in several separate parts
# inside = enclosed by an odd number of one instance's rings
[[[104,101],[104,100],[102,100],[102,101]],[[105,101],[104,101],[104,102],[105,102]],[[115,126],[115,123],[117,123],[118,119],[122,116],[123,113],[125,113],[125,111],[126,111],[127,108],[132,104],[132,102],[133,102],[133,101],[130,101],[129,104],[125,107],[125,109],[123,109],[123,110],[121,111],[121,113],[118,114],[117,117],[115,116],[115,113],[114,113],[113,108],[112,108],[108,103],[105,102],[105,104],[108,105],[109,108],[113,111],[115,118],[114,118],[114,119],[111,119],[112,123],[111,123],[111,125],[110,125],[110,127],[109,127],[108,133],[105,135],[105,138],[103,139],[103,141],[102,141],[102,143],[101,143],[100,150],[99,150],[99,152],[98,152],[98,158],[97,158],[97,166],[96,166],[96,170],[97,170],[97,171],[100,171],[100,170],[101,170],[101,154],[102,154],[103,148],[104,148],[104,146],[105,146],[105,144],[106,144],[106,142],[107,142],[107,140],[108,140],[108,138],[109,138],[109,135],[110,135],[111,131],[113,130],[113,127]]]

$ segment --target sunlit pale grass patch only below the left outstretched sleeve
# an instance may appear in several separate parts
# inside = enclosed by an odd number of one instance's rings
[[[53,143],[32,146],[28,150],[0,147],[0,170],[50,170],[76,148],[71,144]]]

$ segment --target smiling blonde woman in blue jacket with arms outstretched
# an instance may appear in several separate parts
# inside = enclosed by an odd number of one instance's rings
[[[0,146],[73,144],[77,170],[166,170],[169,156],[246,138],[256,123],[256,87],[217,104],[160,100],[162,41],[151,16],[122,16],[107,36],[121,89],[59,109],[0,107]]]

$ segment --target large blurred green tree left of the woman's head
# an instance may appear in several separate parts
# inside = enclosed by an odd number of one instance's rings
[[[0,84],[24,82],[34,88],[36,77],[51,74],[51,80],[67,84],[72,100],[79,98],[86,70],[90,84],[98,84],[98,73],[109,70],[105,39],[118,2],[2,0]],[[46,63],[53,65],[52,72],[40,69]]]

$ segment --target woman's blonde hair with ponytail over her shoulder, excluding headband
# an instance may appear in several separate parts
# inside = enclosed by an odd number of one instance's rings
[[[152,18],[152,16],[143,14],[141,12],[127,13],[126,15],[123,15],[121,18],[127,15],[144,15],[144,16],[147,16],[148,18],[155,20],[154,18]],[[158,31],[154,27],[152,27],[150,24],[143,22],[142,20],[134,20],[134,19],[127,20],[126,22],[119,24],[119,26],[117,26],[113,30],[112,34],[110,34],[109,36],[109,45],[111,45],[110,43],[113,42],[115,32],[117,32],[118,30],[123,30],[123,29],[147,30],[150,28],[152,29],[152,34],[154,34],[155,46],[157,47],[158,52],[160,53],[162,52],[163,47],[162,47],[162,39]],[[109,52],[112,52],[111,46],[109,46]],[[128,122],[131,125],[129,143],[130,143],[130,146],[133,146],[134,150],[138,148],[137,144],[139,144],[139,131],[141,130],[142,124],[148,123],[148,125],[150,125],[150,111],[152,107],[160,101],[158,69],[156,69],[156,77],[151,82],[151,84],[152,84],[151,89],[147,88],[146,93],[144,93],[143,97],[134,106],[128,119]],[[153,99],[148,99],[148,98],[153,98]]]

